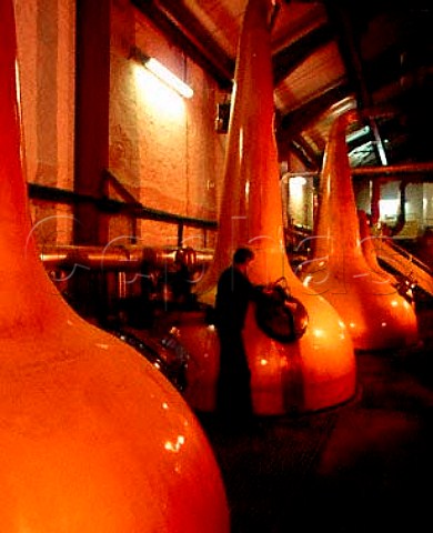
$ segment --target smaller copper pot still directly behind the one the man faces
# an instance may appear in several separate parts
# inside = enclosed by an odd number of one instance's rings
[[[339,117],[325,150],[312,260],[303,269],[305,286],[320,292],[340,313],[355,350],[406,346],[417,341],[413,306],[363,253],[345,133],[356,111]],[[364,247],[365,249],[365,247]]]

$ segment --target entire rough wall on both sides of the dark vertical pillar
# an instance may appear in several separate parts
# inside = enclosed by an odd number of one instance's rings
[[[16,17],[27,179],[73,190],[75,1],[16,0]],[[194,97],[164,100],[168,90],[130,59],[133,46],[190,83]],[[109,170],[145,207],[216,220],[225,150],[225,135],[214,131],[219,98],[213,80],[131,2],[112,1]],[[71,243],[71,208],[32,201],[31,212],[43,242]],[[112,218],[110,239],[130,228]],[[177,242],[174,224],[139,221],[138,232],[147,245]],[[201,230],[187,229],[185,239],[204,242]]]

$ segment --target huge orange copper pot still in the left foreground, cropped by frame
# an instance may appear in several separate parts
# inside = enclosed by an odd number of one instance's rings
[[[8,533],[229,531],[210,445],[174,388],[73,312],[31,237],[13,1],[0,2],[0,523]]]

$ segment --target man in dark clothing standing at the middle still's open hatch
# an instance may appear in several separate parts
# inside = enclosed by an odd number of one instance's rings
[[[215,325],[220,341],[216,412],[232,429],[246,428],[253,419],[251,372],[242,339],[248,306],[254,298],[254,285],[248,278],[253,259],[252,250],[239,248],[216,286]]]

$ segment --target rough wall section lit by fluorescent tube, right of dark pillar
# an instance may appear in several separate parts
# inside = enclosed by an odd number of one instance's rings
[[[114,3],[112,13],[110,170],[148,208],[216,220],[224,158],[214,131],[218,88],[127,3]],[[188,82],[193,98],[173,93],[131,59],[133,46]],[[139,233],[149,245],[175,245],[178,229],[141,221]],[[187,238],[203,241],[201,231]]]

